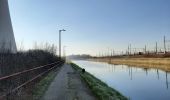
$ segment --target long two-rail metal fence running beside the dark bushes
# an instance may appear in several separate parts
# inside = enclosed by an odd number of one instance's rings
[[[10,97],[17,95],[22,87],[27,86],[62,64],[63,61],[58,61],[0,77],[0,100],[8,100]]]

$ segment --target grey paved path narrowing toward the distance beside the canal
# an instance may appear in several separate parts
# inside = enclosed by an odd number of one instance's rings
[[[65,64],[49,86],[42,100],[96,100],[78,73]]]

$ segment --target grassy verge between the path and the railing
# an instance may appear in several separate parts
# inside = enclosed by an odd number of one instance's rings
[[[42,96],[47,91],[50,83],[54,80],[57,72],[52,71],[47,74],[39,83],[37,83],[35,89],[33,90],[33,100],[40,100]]]

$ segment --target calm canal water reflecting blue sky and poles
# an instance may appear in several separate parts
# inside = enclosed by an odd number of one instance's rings
[[[73,61],[130,100],[170,100],[170,73],[126,65]]]

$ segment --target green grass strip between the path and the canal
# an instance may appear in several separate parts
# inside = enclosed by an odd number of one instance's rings
[[[90,73],[88,72],[81,73],[82,69],[78,65],[71,63],[71,66],[76,71],[80,72],[81,78],[87,83],[93,94],[99,100],[128,100],[121,93],[109,87],[107,84],[97,79]]]

